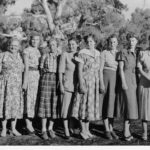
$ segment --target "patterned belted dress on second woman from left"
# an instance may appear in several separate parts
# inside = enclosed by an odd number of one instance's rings
[[[24,55],[28,57],[29,74],[27,83],[27,92],[25,94],[25,115],[29,118],[35,116],[35,106],[37,102],[37,92],[40,74],[38,71],[39,59],[41,54],[38,49],[28,47],[24,49]]]

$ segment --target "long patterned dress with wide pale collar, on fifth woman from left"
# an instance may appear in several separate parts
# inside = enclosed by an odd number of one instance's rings
[[[97,50],[94,50],[94,52],[95,56],[90,50],[83,49],[79,52],[78,59],[76,59],[83,64],[83,80],[87,93],[76,95],[72,116],[81,120],[100,120],[100,53]]]

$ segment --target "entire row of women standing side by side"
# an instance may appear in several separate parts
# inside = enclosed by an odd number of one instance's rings
[[[95,49],[93,35],[85,38],[87,46],[79,52],[76,39],[69,39],[69,50],[62,54],[57,41],[51,39],[49,51],[41,56],[39,41],[40,36],[33,35],[31,46],[20,55],[19,41],[12,39],[9,50],[0,54],[2,137],[6,136],[9,119],[13,135],[21,135],[16,130],[16,121],[22,118],[25,119],[28,133],[34,134],[32,122],[37,115],[41,118],[43,139],[55,137],[54,121],[60,117],[63,119],[65,138],[70,137],[68,119],[75,117],[80,121],[83,139],[93,137],[89,122],[101,119],[104,121],[106,138],[118,139],[113,130],[113,118],[116,104],[121,102],[125,119],[124,139],[133,139],[130,123],[140,118],[144,129],[142,138],[147,140],[150,52],[145,50],[137,54],[138,40],[135,36],[129,38],[129,48],[118,51],[117,37],[112,35],[108,40],[108,49],[101,53]],[[117,84],[118,76],[121,84]],[[58,90],[61,93],[61,108],[58,107]]]

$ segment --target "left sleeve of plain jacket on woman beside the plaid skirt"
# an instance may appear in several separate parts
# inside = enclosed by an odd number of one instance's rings
[[[65,73],[66,70],[66,53],[63,53],[59,61],[59,73]]]

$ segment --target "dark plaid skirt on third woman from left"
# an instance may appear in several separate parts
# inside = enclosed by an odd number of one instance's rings
[[[44,73],[40,81],[38,117],[56,119],[59,117],[56,73]]]

